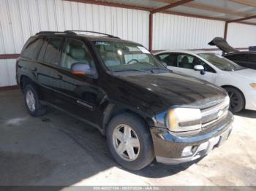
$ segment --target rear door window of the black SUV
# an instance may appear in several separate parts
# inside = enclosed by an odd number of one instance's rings
[[[60,57],[59,47],[61,45],[61,38],[49,38],[46,39],[48,42],[46,45],[44,62],[57,64]]]

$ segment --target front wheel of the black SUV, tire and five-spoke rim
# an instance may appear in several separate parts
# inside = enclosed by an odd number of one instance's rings
[[[124,138],[127,137],[124,136],[124,129],[129,129],[125,131],[129,132],[128,134],[130,136],[127,140]],[[120,134],[122,131],[123,134]],[[116,136],[117,134],[118,136]],[[123,140],[118,141],[116,137],[121,137]],[[113,155],[116,162],[124,168],[132,171],[140,170],[154,160],[154,147],[151,133],[146,126],[146,123],[135,114],[127,112],[113,117],[107,128],[107,141],[110,153]],[[133,144],[132,146],[131,141]],[[119,148],[124,146],[124,149],[126,150],[122,153],[119,152],[118,154],[118,146]],[[133,148],[131,149],[131,147]],[[120,149],[120,151],[121,150],[122,149]],[[130,155],[132,151],[135,155]]]

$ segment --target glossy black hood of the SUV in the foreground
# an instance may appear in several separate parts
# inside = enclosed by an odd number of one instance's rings
[[[203,109],[222,101],[225,90],[209,82],[176,73],[117,76],[126,85],[137,89],[129,93],[133,102],[147,103],[155,112],[175,105],[189,105]],[[136,87],[136,88],[135,88]],[[124,89],[124,87],[122,87]]]

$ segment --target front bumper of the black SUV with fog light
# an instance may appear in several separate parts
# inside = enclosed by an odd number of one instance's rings
[[[219,147],[223,141],[228,139],[232,123],[233,115],[229,112],[227,117],[217,124],[195,135],[178,135],[164,128],[151,128],[157,162],[178,164],[207,155],[214,147]]]

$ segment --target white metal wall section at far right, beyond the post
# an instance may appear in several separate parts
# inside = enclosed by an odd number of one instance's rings
[[[239,23],[228,24],[227,42],[233,47],[256,46],[256,27]]]

